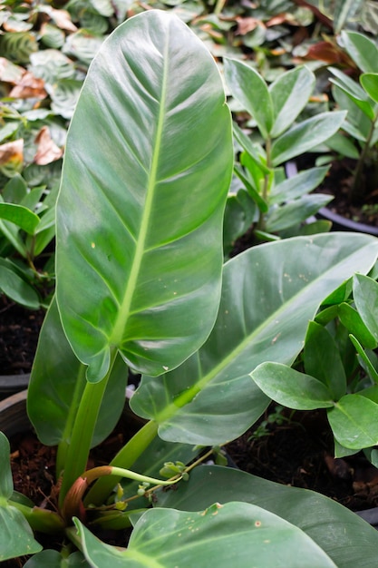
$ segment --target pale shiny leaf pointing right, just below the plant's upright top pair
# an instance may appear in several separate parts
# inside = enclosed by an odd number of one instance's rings
[[[345,115],[343,111],[315,114],[281,134],[272,144],[273,165],[276,167],[325,142],[339,130]]]

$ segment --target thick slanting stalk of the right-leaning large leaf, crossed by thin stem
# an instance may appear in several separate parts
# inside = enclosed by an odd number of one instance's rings
[[[110,465],[124,469],[130,468],[157,436],[158,426],[158,423],[154,420],[150,420],[150,422],[142,426],[141,430],[132,436],[131,440],[114,456]],[[119,480],[120,477],[118,479],[114,477],[102,477],[102,479],[99,479],[95,485],[93,485],[92,489],[90,489],[88,495],[86,495],[84,504],[99,506],[104,503],[108,495],[111,494],[112,488],[114,485],[117,485]]]

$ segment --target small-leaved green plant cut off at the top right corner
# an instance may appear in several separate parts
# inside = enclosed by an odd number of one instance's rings
[[[334,100],[348,113],[342,129],[349,137],[339,151],[356,160],[349,200],[360,205],[378,180],[378,48],[356,32],[343,32],[341,38],[346,53],[362,71],[357,82],[340,69],[329,68],[334,75]]]

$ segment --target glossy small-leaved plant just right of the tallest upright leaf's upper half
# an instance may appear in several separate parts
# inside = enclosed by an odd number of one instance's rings
[[[246,229],[232,222],[240,209],[247,210],[245,225],[253,221],[259,240],[329,230],[329,225],[319,221],[301,227],[332,200],[329,195],[309,195],[323,181],[327,168],[312,168],[286,179],[283,165],[337,132],[345,113],[320,113],[297,122],[315,85],[315,75],[306,67],[283,73],[269,86],[254,68],[237,60],[225,61],[225,75],[231,93],[253,117],[262,138],[262,143],[252,142],[234,125],[241,148],[235,173],[243,185],[237,197],[230,198],[240,205],[228,205],[231,220],[226,219],[226,228],[231,230],[230,236],[226,233],[226,242],[232,241],[232,230]],[[239,185],[236,187],[239,189]]]

